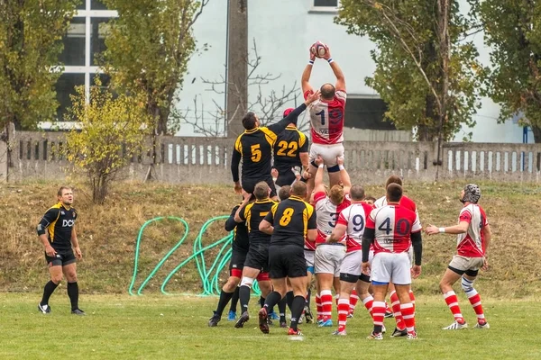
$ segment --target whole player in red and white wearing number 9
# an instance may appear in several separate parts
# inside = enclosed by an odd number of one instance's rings
[[[338,299],[338,329],[334,335],[346,335],[345,323],[350,311],[350,295],[355,288],[361,297],[362,303],[371,312],[373,298],[368,293],[370,276],[362,274],[362,234],[366,220],[373,209],[364,202],[364,189],[360,185],[353,185],[350,190],[352,204],[340,212],[335,229],[327,242],[341,241],[345,236],[345,256],[340,266],[340,298]]]

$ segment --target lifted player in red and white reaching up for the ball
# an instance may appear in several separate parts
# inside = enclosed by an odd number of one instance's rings
[[[336,76],[335,85],[326,83],[321,85],[321,97],[311,103],[308,107],[310,112],[310,132],[312,145],[310,146],[310,174],[316,174],[316,165],[313,161],[317,155],[323,157],[329,173],[330,185],[340,182],[340,169],[336,157],[344,158],[344,114],[345,114],[345,77],[342,69],[338,67],[335,60],[331,58],[331,52],[326,48],[324,56]],[[310,52],[310,60],[302,73],[300,84],[305,98],[314,94],[314,88],[310,85],[310,76],[315,60],[314,54]],[[305,176],[308,177],[308,176]],[[313,188],[313,182],[308,180],[308,193]]]

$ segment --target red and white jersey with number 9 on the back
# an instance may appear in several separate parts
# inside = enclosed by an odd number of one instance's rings
[[[366,203],[352,203],[340,212],[337,224],[347,226],[345,230],[346,253],[362,250],[362,234],[366,226],[366,219],[370,216],[373,207]]]

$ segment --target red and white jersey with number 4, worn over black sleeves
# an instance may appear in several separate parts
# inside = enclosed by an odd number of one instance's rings
[[[408,251],[411,234],[422,229],[415,212],[395,204],[372,210],[366,228],[375,230],[374,255]]]

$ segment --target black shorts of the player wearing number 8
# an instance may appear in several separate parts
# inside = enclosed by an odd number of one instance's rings
[[[307,260],[304,249],[297,245],[272,245],[269,247],[271,279],[307,276]]]

